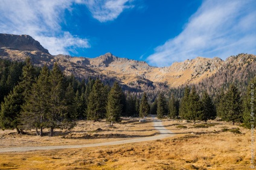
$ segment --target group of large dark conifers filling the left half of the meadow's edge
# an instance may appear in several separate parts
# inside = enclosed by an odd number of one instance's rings
[[[2,89],[1,89],[2,91]],[[100,80],[78,81],[65,77],[57,63],[50,71],[45,65],[37,75],[37,68],[26,59],[18,84],[1,102],[2,129],[36,129],[43,136],[43,128],[70,129],[77,119],[120,122],[125,112],[126,98],[118,83],[111,88]]]

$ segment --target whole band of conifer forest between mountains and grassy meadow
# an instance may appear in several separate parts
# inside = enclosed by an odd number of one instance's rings
[[[43,128],[49,128],[53,136],[55,128],[71,129],[79,119],[107,119],[113,125],[121,121],[121,116],[144,118],[152,114],[160,119],[186,119],[194,123],[218,116],[223,121],[251,128],[255,75],[248,70],[238,75],[232,66],[229,70],[231,73],[220,72],[199,84],[168,90],[163,86],[149,87],[141,92],[129,91],[117,82],[110,86],[99,78],[67,77],[57,63],[50,70],[46,65],[33,66],[30,58],[25,62],[1,59],[0,127],[16,129],[21,134],[34,128],[40,136]],[[218,87],[214,84],[218,77],[223,78],[220,74],[231,74],[231,79],[223,80],[226,83]],[[234,78],[236,81],[232,81]],[[207,81],[215,83],[210,86]]]

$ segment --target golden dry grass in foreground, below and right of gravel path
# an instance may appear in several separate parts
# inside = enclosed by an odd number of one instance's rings
[[[250,131],[214,123],[208,128],[194,128],[191,123],[164,120],[165,127],[176,136],[117,146],[2,153],[0,169],[250,169]],[[138,129],[147,124],[126,125]],[[178,125],[187,128],[176,128]],[[223,127],[238,127],[242,133],[223,132]]]

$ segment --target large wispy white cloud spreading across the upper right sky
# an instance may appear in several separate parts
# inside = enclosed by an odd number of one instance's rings
[[[184,30],[147,57],[150,65],[170,66],[197,56],[225,59],[256,53],[256,1],[204,1]]]

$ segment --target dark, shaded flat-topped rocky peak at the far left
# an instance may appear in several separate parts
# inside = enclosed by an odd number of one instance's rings
[[[42,51],[49,54],[37,40],[28,35],[0,34],[0,48],[18,49],[21,51]]]

